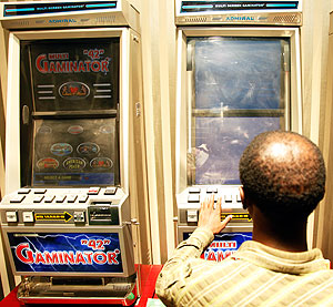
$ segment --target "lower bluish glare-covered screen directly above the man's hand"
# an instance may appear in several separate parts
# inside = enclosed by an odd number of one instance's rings
[[[240,184],[239,162],[253,137],[279,130],[279,117],[198,117],[195,183]]]

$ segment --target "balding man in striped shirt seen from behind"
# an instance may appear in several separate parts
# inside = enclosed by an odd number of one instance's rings
[[[221,263],[200,258],[220,219],[221,199],[201,204],[199,227],[182,242],[157,280],[169,306],[333,306],[333,272],[320,249],[307,250],[306,219],[323,198],[325,166],[319,149],[292,132],[256,136],[240,161],[243,206],[253,241]]]

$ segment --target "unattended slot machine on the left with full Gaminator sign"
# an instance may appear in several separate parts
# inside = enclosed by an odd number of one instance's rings
[[[129,306],[138,297],[129,152],[139,12],[125,0],[0,8],[9,32],[0,216],[22,277],[18,297]]]

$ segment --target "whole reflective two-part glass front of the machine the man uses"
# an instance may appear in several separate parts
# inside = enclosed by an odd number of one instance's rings
[[[289,40],[188,39],[188,184],[240,184],[239,160],[261,132],[285,130]]]

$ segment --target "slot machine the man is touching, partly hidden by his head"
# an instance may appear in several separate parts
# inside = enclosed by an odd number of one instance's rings
[[[175,1],[178,27],[178,241],[198,225],[200,203],[232,214],[203,257],[222,260],[252,238],[239,161],[264,131],[302,133],[302,1]]]

